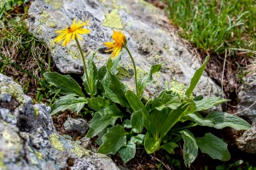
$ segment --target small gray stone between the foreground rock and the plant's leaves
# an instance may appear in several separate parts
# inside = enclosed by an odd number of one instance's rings
[[[70,117],[67,119],[66,122],[64,122],[64,127],[67,131],[77,130],[82,134],[87,133],[90,128],[89,124],[85,122],[84,119],[73,119]]]

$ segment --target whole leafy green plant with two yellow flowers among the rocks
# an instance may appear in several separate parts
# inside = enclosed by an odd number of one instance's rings
[[[67,45],[70,40],[76,40],[79,34],[85,33],[83,26],[73,25],[61,31],[56,42],[65,39],[62,45]],[[83,26],[82,26],[83,25]],[[90,31],[86,31],[86,33]],[[207,126],[221,129],[233,127],[236,130],[246,130],[250,125],[243,119],[221,111],[213,111],[207,116],[201,116],[200,111],[206,111],[214,105],[228,101],[219,97],[204,99],[202,96],[193,97],[193,91],[199,82],[201,75],[207,65],[209,56],[201,67],[195,71],[189,87],[183,97],[172,90],[165,89],[158,96],[143,103],[143,90],[152,82],[153,74],[160,71],[160,65],[152,65],[148,75],[137,81],[135,61],[127,47],[125,35],[121,31],[113,31],[113,42],[104,42],[110,55],[107,64],[96,68],[94,56],[88,58],[87,66],[84,63],[85,78],[84,94],[82,88],[72,77],[62,76],[55,72],[44,73],[45,79],[61,89],[65,94],[56,99],[52,105],[51,115],[65,111],[80,112],[83,108],[94,111],[90,120],[88,138],[97,136],[100,145],[98,152],[102,154],[119,153],[124,162],[130,161],[136,154],[137,145],[143,145],[148,154],[156,150],[166,150],[173,154],[177,148],[177,142],[183,139],[183,158],[185,165],[195,161],[198,150],[207,153],[213,159],[227,161],[230,153],[227,144],[212,133],[206,133],[203,137],[195,137],[189,131],[189,127]],[[116,76],[121,56],[119,52],[125,48],[134,66],[134,77],[136,93],[129,90],[127,86]],[[87,75],[88,74],[88,75]],[[89,88],[90,87],[90,88]],[[117,120],[119,119],[119,122]]]

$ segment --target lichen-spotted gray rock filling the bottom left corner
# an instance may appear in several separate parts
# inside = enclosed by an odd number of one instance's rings
[[[0,74],[0,169],[118,169],[102,154],[56,133],[50,108],[32,105],[20,85]]]

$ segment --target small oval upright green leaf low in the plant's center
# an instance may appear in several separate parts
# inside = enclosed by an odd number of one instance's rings
[[[135,111],[131,115],[131,127],[133,132],[135,133],[141,133],[143,130],[143,111]]]

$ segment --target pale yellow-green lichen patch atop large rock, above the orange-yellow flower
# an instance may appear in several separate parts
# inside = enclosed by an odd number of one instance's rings
[[[123,21],[119,16],[119,9],[113,9],[110,14],[106,14],[102,26],[108,26],[110,28],[123,29]]]

